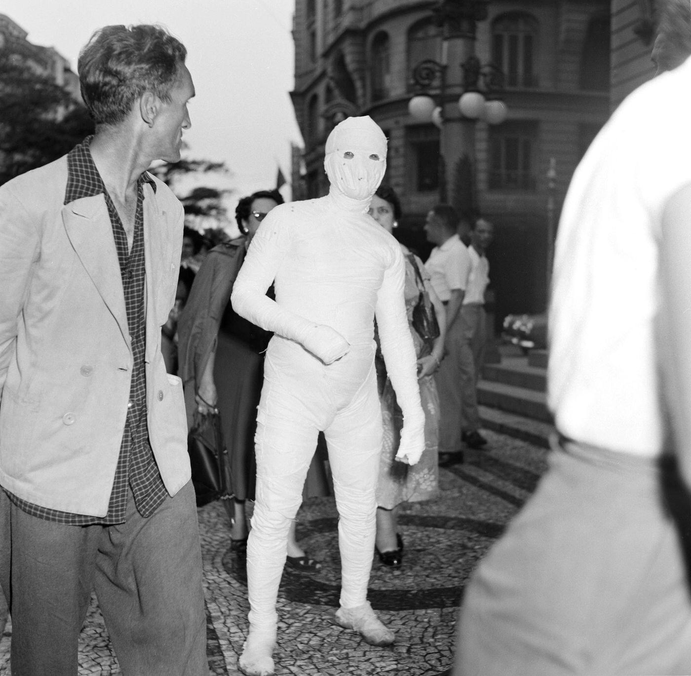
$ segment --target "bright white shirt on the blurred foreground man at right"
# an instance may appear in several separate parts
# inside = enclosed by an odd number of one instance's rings
[[[691,183],[691,60],[639,87],[576,169],[556,241],[549,407],[562,434],[641,456],[662,450],[659,243]]]

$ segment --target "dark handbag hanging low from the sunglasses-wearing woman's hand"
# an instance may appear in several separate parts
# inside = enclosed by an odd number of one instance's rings
[[[228,452],[223,443],[218,413],[195,412],[187,436],[187,452],[192,469],[192,485],[197,506],[233,497]]]

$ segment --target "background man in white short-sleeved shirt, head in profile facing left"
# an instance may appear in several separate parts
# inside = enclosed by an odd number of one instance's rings
[[[453,206],[437,204],[427,214],[425,233],[436,244],[425,263],[430,283],[446,306],[446,355],[435,374],[439,391],[439,452],[461,450],[461,378],[472,354],[465,344],[460,309],[463,305],[471,258],[457,235],[458,215]]]

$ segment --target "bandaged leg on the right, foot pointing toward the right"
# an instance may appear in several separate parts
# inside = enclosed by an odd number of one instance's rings
[[[372,376],[374,371],[372,371]],[[373,646],[388,646],[394,634],[367,602],[377,514],[381,413],[374,378],[325,431],[339,510],[341,608],[336,621]]]

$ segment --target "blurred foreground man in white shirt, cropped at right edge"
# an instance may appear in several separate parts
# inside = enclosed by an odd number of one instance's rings
[[[691,46],[688,0],[663,29]],[[454,676],[691,673],[689,110],[691,59],[627,97],[574,173],[549,312],[559,434],[466,587]]]

